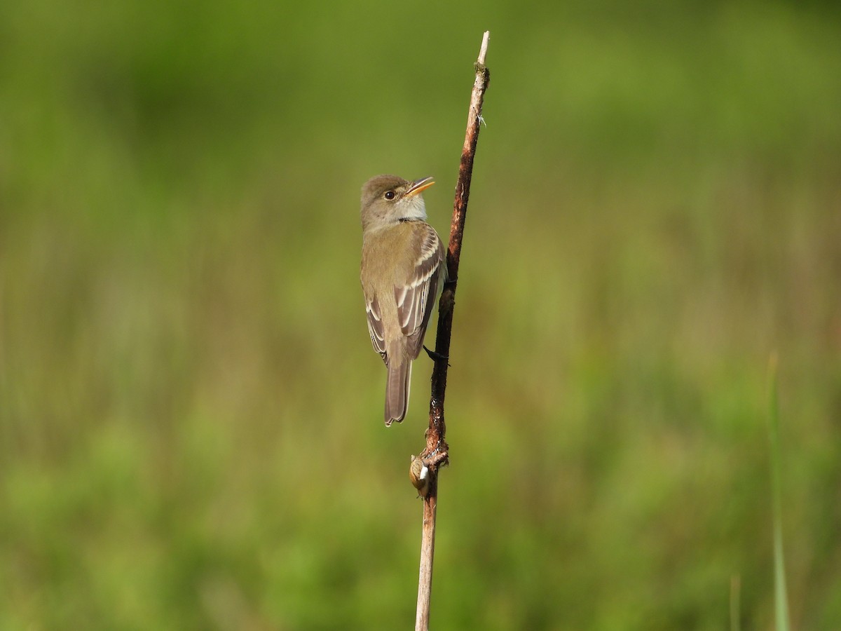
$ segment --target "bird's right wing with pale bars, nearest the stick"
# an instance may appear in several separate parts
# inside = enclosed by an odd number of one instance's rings
[[[406,353],[416,358],[421,352],[426,325],[438,295],[442,278],[444,245],[431,225],[422,223],[425,230],[415,237],[421,240],[421,253],[405,285],[394,287],[397,317],[403,334],[407,337]]]

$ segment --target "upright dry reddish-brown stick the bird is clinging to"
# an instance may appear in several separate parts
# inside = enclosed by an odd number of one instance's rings
[[[415,631],[429,628],[429,599],[432,588],[432,557],[435,554],[435,514],[438,498],[438,468],[447,464],[448,447],[444,435],[444,393],[447,390],[447,356],[450,354],[452,333],[452,310],[455,305],[458,280],[458,259],[462,252],[464,219],[468,212],[470,178],[473,175],[473,156],[476,141],[479,140],[479,125],[482,123],[482,101],[490,81],[490,72],[484,65],[488,52],[490,32],[485,31],[479,59],[476,61],[476,81],[470,95],[468,128],[464,136],[462,161],[458,167],[456,199],[452,208],[450,243],[447,249],[447,284],[438,304],[438,331],[435,338],[436,360],[432,370],[432,395],[429,402],[429,429],[426,430],[426,448],[418,458],[428,468],[426,471],[426,494],[423,498],[423,531],[421,535],[421,575],[418,579],[418,606],[415,615]]]

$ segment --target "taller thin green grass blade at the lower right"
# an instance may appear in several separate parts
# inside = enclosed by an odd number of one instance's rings
[[[777,356],[769,362],[769,437],[771,449],[771,497],[774,527],[774,609],[778,631],[789,631],[788,596],[785,588],[785,556],[783,554],[782,491],[780,473],[780,402],[777,394]]]

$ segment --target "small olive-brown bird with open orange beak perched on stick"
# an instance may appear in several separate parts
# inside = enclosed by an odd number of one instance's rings
[[[412,360],[447,276],[444,245],[426,223],[421,191],[432,178],[408,182],[378,175],[362,187],[362,293],[373,348],[389,370],[385,424],[401,422],[409,406]]]

